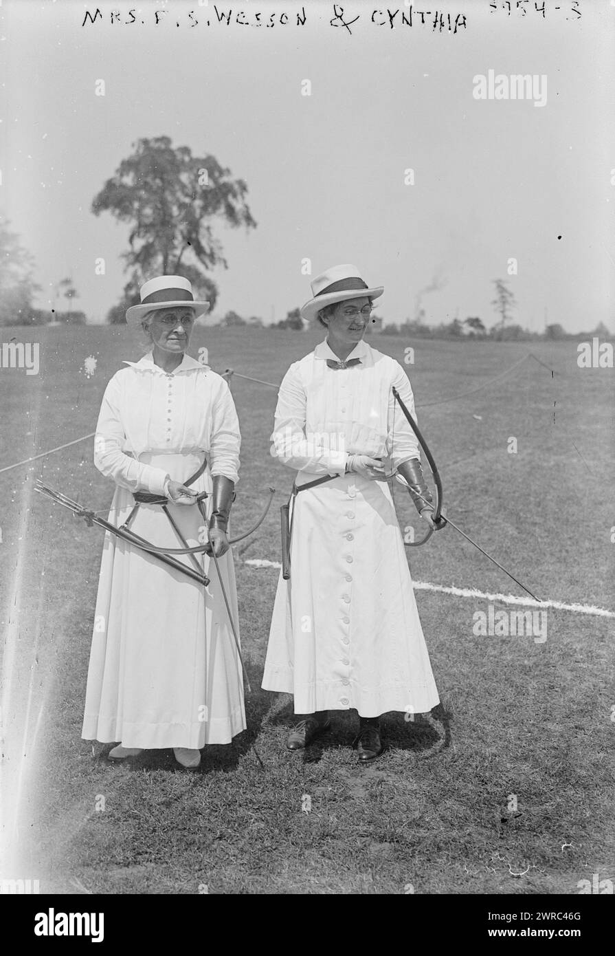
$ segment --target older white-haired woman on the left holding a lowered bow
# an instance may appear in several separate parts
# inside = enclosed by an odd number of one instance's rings
[[[169,549],[196,547],[207,541],[196,497],[208,492],[211,545],[238,635],[227,525],[239,423],[226,381],[186,354],[209,304],[175,275],[146,282],[140,297],[126,320],[143,326],[152,349],[109,381],[96,425],[95,465],[116,482],[109,520],[126,521],[135,493],[162,495],[176,529],[160,504],[145,500],[131,532]],[[220,580],[212,557],[195,559],[206,587],[105,535],[82,736],[119,742],[111,759],[172,748],[180,765],[197,767],[206,744],[229,743],[245,728],[239,646]],[[193,557],[177,560],[194,567]]]

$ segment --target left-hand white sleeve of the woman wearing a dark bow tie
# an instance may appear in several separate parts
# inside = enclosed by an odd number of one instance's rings
[[[271,454],[290,468],[308,474],[344,474],[348,454],[326,434],[306,434],[306,389],[297,363],[290,366],[280,386],[275,422],[271,435]]]

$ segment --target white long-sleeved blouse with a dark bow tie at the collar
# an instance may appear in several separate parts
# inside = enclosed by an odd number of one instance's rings
[[[350,454],[391,460],[397,467],[420,458],[414,432],[392,396],[392,386],[414,416],[414,395],[406,373],[395,359],[377,352],[364,340],[346,369],[327,340],[304,359],[293,362],[278,393],[271,454],[284,465],[311,474],[344,474]]]

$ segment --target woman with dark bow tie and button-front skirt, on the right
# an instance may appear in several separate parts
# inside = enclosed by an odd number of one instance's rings
[[[294,695],[289,750],[329,728],[329,710],[356,709],[361,764],[383,751],[380,715],[438,704],[384,459],[406,480],[427,523],[432,501],[419,446],[392,397],[414,414],[394,359],[364,340],[372,300],[355,266],[311,283],[302,309],[327,338],[294,362],[280,387],[271,453],[295,472],[289,579],[278,582],[263,687]],[[420,496],[420,497],[419,497]]]

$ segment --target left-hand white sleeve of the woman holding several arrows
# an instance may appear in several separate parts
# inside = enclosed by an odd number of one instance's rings
[[[121,422],[122,388],[117,375],[105,389],[94,440],[94,464],[121,488],[162,494],[169,477],[163,468],[143,465],[121,450],[126,440]]]

